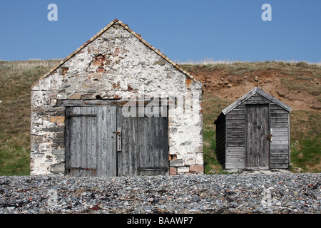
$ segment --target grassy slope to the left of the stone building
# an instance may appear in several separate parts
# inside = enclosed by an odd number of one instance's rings
[[[0,61],[0,175],[29,175],[32,84],[59,61]]]

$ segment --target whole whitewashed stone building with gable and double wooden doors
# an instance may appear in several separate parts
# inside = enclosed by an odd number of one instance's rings
[[[31,88],[31,175],[203,172],[202,85],[115,19]]]

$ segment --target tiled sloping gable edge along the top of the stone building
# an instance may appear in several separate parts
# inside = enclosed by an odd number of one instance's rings
[[[95,36],[91,37],[86,43],[83,43],[82,46],[80,46],[79,48],[77,48],[76,51],[73,51],[73,53],[71,53],[69,56],[67,56],[66,58],[63,59],[63,61],[61,61],[60,63],[58,63],[58,66],[55,66],[54,68],[51,68],[51,70],[49,70],[46,74],[44,74],[44,76],[42,76],[41,78],[39,78],[39,81],[46,78],[47,76],[49,76],[52,72],[56,71],[56,69],[58,69],[61,65],[63,65],[63,63],[66,63],[66,61],[68,61],[70,58],[72,58],[73,56],[75,56],[79,51],[81,51],[83,48],[86,48],[86,46],[88,46],[89,43],[93,42],[96,38],[98,38],[98,36],[101,36],[102,33],[104,33],[105,31],[108,30],[108,28],[111,28],[113,25],[118,25],[118,26],[122,26],[123,28],[125,28],[128,32],[132,33],[134,36],[136,36],[136,38],[139,39],[139,41],[141,41],[143,44],[145,44],[146,46],[148,46],[148,48],[151,48],[153,51],[155,51],[159,56],[161,56],[162,58],[164,58],[166,61],[168,61],[168,63],[170,63],[172,66],[174,66],[175,68],[178,69],[178,71],[182,72],[183,74],[185,74],[185,76],[188,76],[188,78],[192,79],[193,81],[196,81],[195,78],[188,73],[187,71],[185,71],[183,68],[181,68],[180,66],[178,66],[178,64],[174,63],[173,61],[171,61],[167,56],[165,56],[163,53],[161,53],[161,51],[159,51],[158,49],[156,49],[155,47],[151,46],[151,44],[149,44],[146,40],[144,40],[143,38],[141,38],[141,35],[139,35],[138,33],[134,32],[133,30],[131,30],[131,28],[129,28],[126,24],[123,24],[123,22],[121,20],[118,19],[114,19],[113,21],[111,21],[111,23],[109,23],[105,28],[101,29],[101,31],[99,31],[98,33],[96,33]]]

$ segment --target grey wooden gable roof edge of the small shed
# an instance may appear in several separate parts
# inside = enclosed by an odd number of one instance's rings
[[[243,103],[245,100],[248,100],[248,98],[252,97],[255,93],[258,93],[258,94],[262,95],[263,97],[267,98],[267,100],[270,100],[272,103],[275,103],[276,105],[279,105],[281,108],[284,108],[289,113],[292,110],[292,108],[290,106],[286,105],[285,103],[282,103],[280,100],[277,100],[277,98],[275,98],[272,95],[266,93],[265,91],[261,90],[260,88],[255,87],[255,88],[253,88],[253,90],[250,90],[250,92],[248,92],[245,95],[243,95],[242,98],[240,98],[238,100],[235,100],[234,103],[229,105],[227,108],[223,109],[222,113],[224,115],[228,114],[231,110],[236,108],[238,105]]]

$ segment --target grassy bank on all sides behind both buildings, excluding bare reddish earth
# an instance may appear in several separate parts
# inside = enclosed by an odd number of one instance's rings
[[[30,156],[30,91],[31,85],[59,61],[0,61],[0,175],[29,175]],[[185,65],[188,71],[205,68],[220,75],[245,76],[264,69],[277,69],[286,74],[280,83],[288,89],[297,86],[320,98],[321,68],[307,63],[228,63]],[[300,78],[301,77],[301,78]],[[311,78],[312,77],[312,78]],[[302,85],[297,84],[297,78]],[[292,83],[294,81],[295,83]],[[311,81],[313,83],[311,83]],[[225,173],[215,157],[214,120],[233,100],[216,93],[203,94],[203,137],[205,173]],[[290,114],[292,172],[321,172],[321,112],[293,110]]]

